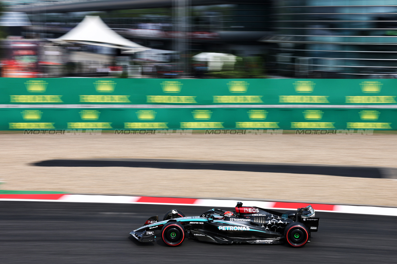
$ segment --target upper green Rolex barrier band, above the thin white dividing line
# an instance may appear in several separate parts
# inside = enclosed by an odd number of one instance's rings
[[[397,80],[0,78],[0,104],[397,104]]]

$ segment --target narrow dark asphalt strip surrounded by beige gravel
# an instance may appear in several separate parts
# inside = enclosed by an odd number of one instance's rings
[[[209,169],[222,171],[333,175],[374,179],[394,178],[393,176],[397,175],[397,170],[395,168],[387,168],[387,170],[385,170],[384,168],[378,167],[165,159],[44,160],[33,163],[33,165],[43,167],[146,167],[158,169]],[[390,174],[393,176],[390,177]]]

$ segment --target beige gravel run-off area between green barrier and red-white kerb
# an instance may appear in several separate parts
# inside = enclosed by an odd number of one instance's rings
[[[395,179],[31,165],[67,158],[167,158],[397,167],[396,145],[397,135],[0,134],[0,188],[397,206]]]

